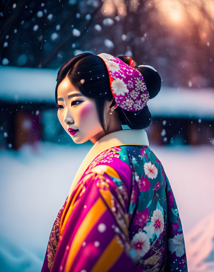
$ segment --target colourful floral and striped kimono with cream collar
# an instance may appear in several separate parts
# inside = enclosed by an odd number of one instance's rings
[[[49,271],[188,271],[178,207],[146,131],[92,146],[51,230]]]

